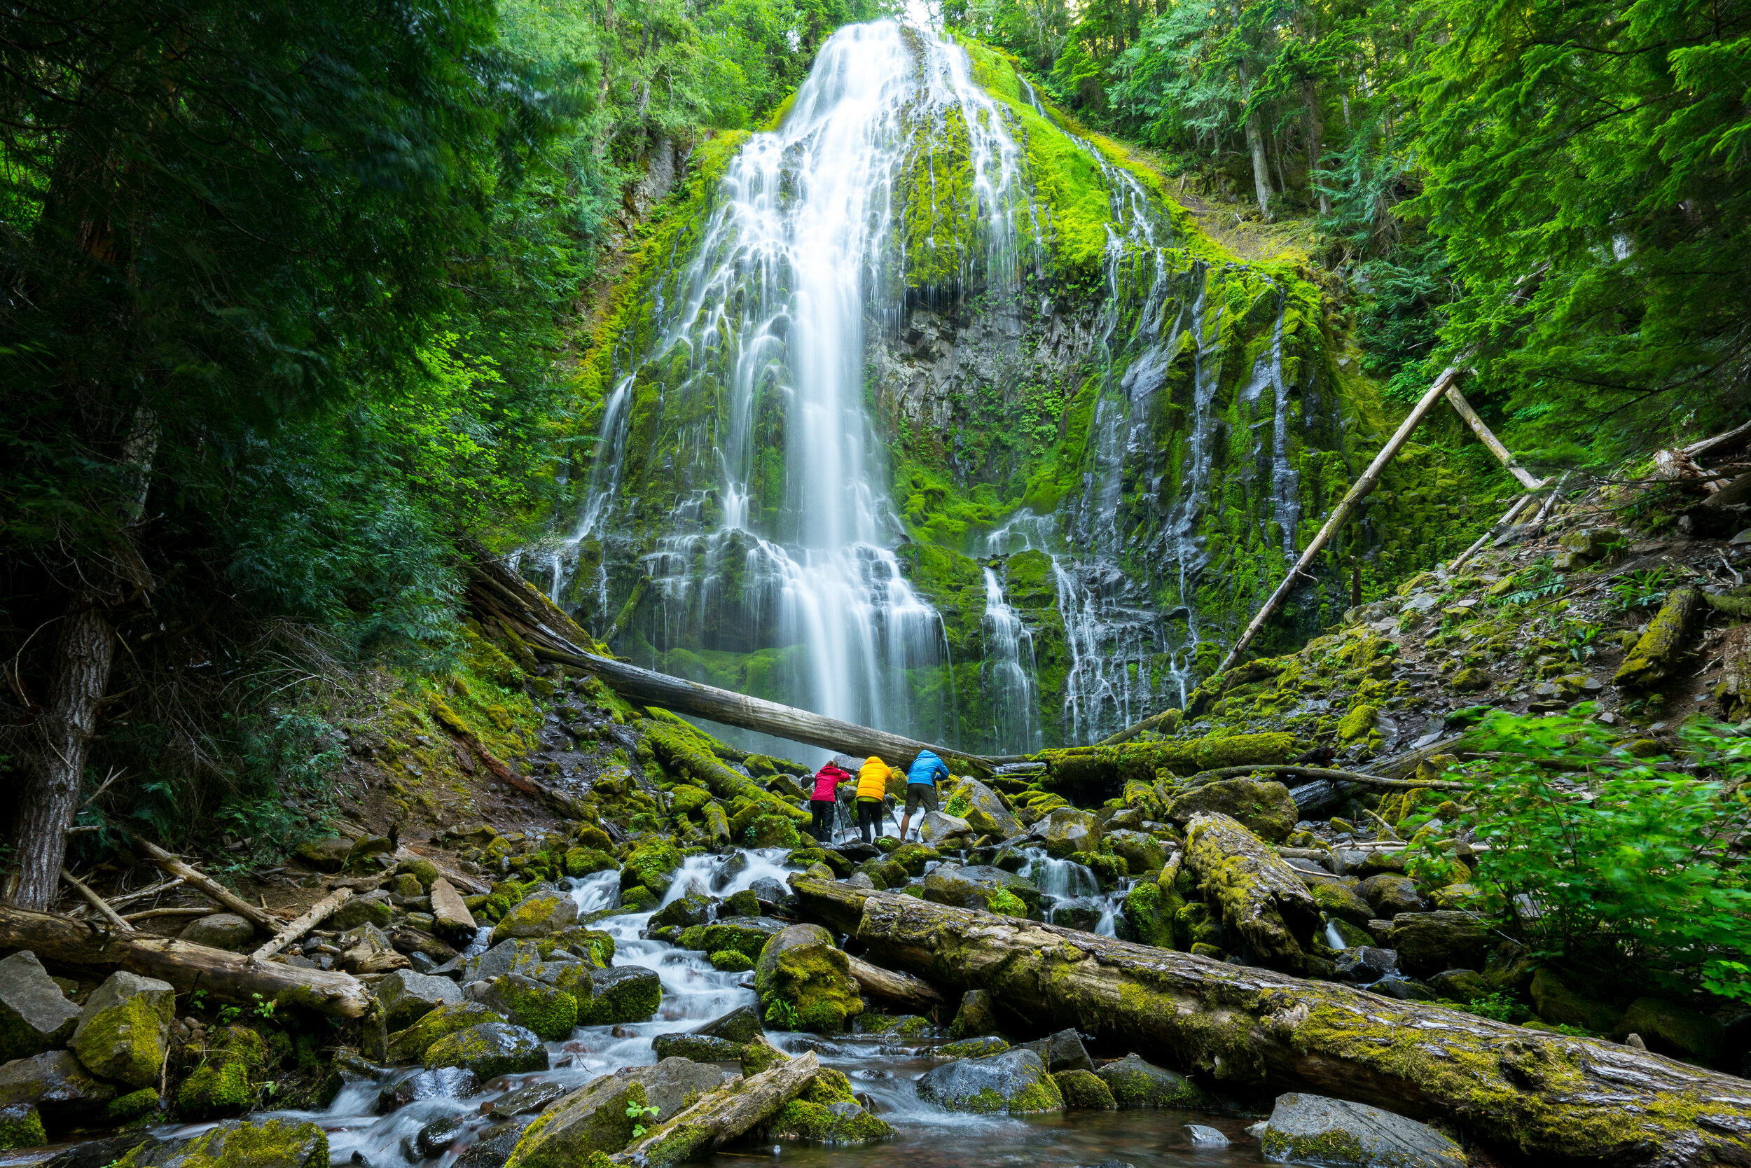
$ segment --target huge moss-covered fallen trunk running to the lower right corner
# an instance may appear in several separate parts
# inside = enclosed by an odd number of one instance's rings
[[[793,888],[805,916],[854,912],[874,961],[1234,1087],[1373,1103],[1572,1163],[1751,1164],[1751,1084],[1658,1054],[916,897]]]

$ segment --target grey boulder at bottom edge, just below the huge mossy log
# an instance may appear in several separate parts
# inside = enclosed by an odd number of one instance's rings
[[[1466,1168],[1457,1143],[1368,1103],[1280,1094],[1264,1124],[1264,1157],[1331,1168]]]

